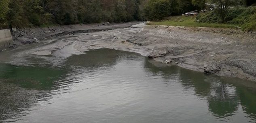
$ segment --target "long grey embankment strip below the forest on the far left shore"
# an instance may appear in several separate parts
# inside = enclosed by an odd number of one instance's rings
[[[106,31],[118,28],[127,28],[138,23],[137,21],[129,23],[101,23],[101,24],[77,24],[77,25],[58,25],[44,28],[25,28],[13,30],[13,45],[10,47],[17,48],[24,44],[40,43],[40,40],[53,38],[62,35],[71,35],[75,33],[89,33],[97,31]]]

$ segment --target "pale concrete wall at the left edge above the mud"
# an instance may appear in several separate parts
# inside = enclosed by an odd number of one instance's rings
[[[9,45],[13,44],[13,38],[10,29],[0,30],[0,50],[8,48]]]

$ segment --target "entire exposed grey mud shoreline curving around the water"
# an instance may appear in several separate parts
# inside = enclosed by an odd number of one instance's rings
[[[133,28],[129,28],[131,25]],[[110,48],[137,52],[167,65],[256,81],[254,35],[222,33],[223,29],[146,26],[138,22],[115,27],[84,28],[41,35],[42,39],[49,39],[1,52],[0,62],[61,66],[69,56],[98,48]],[[27,38],[31,39],[28,35]],[[28,58],[40,60],[29,61]]]

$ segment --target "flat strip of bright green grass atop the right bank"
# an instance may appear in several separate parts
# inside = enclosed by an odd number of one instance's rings
[[[175,16],[169,17],[164,21],[150,21],[148,25],[171,25],[185,27],[214,27],[214,28],[237,28],[236,25],[219,24],[219,23],[198,23],[195,17]]]

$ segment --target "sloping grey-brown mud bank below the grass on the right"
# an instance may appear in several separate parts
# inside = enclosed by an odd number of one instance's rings
[[[147,26],[129,41],[140,43],[140,47],[154,46],[149,56],[155,60],[256,80],[255,34],[230,29]]]

